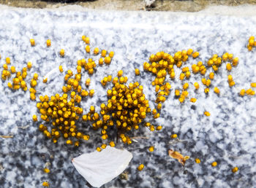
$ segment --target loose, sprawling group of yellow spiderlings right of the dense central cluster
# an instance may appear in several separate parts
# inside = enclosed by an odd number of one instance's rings
[[[155,86],[155,91],[157,93],[157,106],[159,106],[159,102],[165,101],[165,96],[170,94],[170,83],[165,83],[165,78],[167,73],[170,75],[170,79],[175,79],[176,73],[174,71],[174,66],[181,68],[183,63],[185,63],[189,56],[192,58],[197,58],[199,52],[193,52],[192,49],[189,50],[182,50],[176,52],[173,56],[167,54],[165,52],[157,52],[155,55],[151,55],[149,58],[150,63],[143,63],[143,68],[145,71],[150,71],[152,74],[156,75],[156,78],[152,82],[152,85]],[[218,71],[219,67],[222,66],[223,62],[227,63],[227,71],[231,71],[232,66],[238,65],[238,58],[233,58],[233,54],[225,53],[222,57],[219,57],[217,54],[212,55],[212,57],[207,61],[207,66],[203,65],[202,61],[198,61],[196,64],[192,64],[192,73],[197,74],[200,73],[201,75],[205,75],[208,68],[212,68],[215,72]],[[188,66],[184,66],[181,68],[181,74],[179,75],[179,79],[183,81],[184,79],[189,79],[191,76],[191,71],[189,71]],[[208,75],[208,79],[202,78],[201,81],[203,85],[205,85],[204,92],[206,94],[209,93],[211,87],[211,80],[214,79],[214,72],[210,72]],[[235,82],[230,75],[228,77],[228,82],[230,87],[235,85]],[[199,84],[197,82],[194,83],[195,90],[199,89]],[[184,83],[183,90],[175,90],[176,98],[180,103],[183,103],[186,98],[188,98],[188,89],[189,84]],[[219,88],[214,87],[214,93],[219,94]],[[196,98],[190,98],[192,103],[195,103]],[[159,108],[157,108],[159,109]]]

